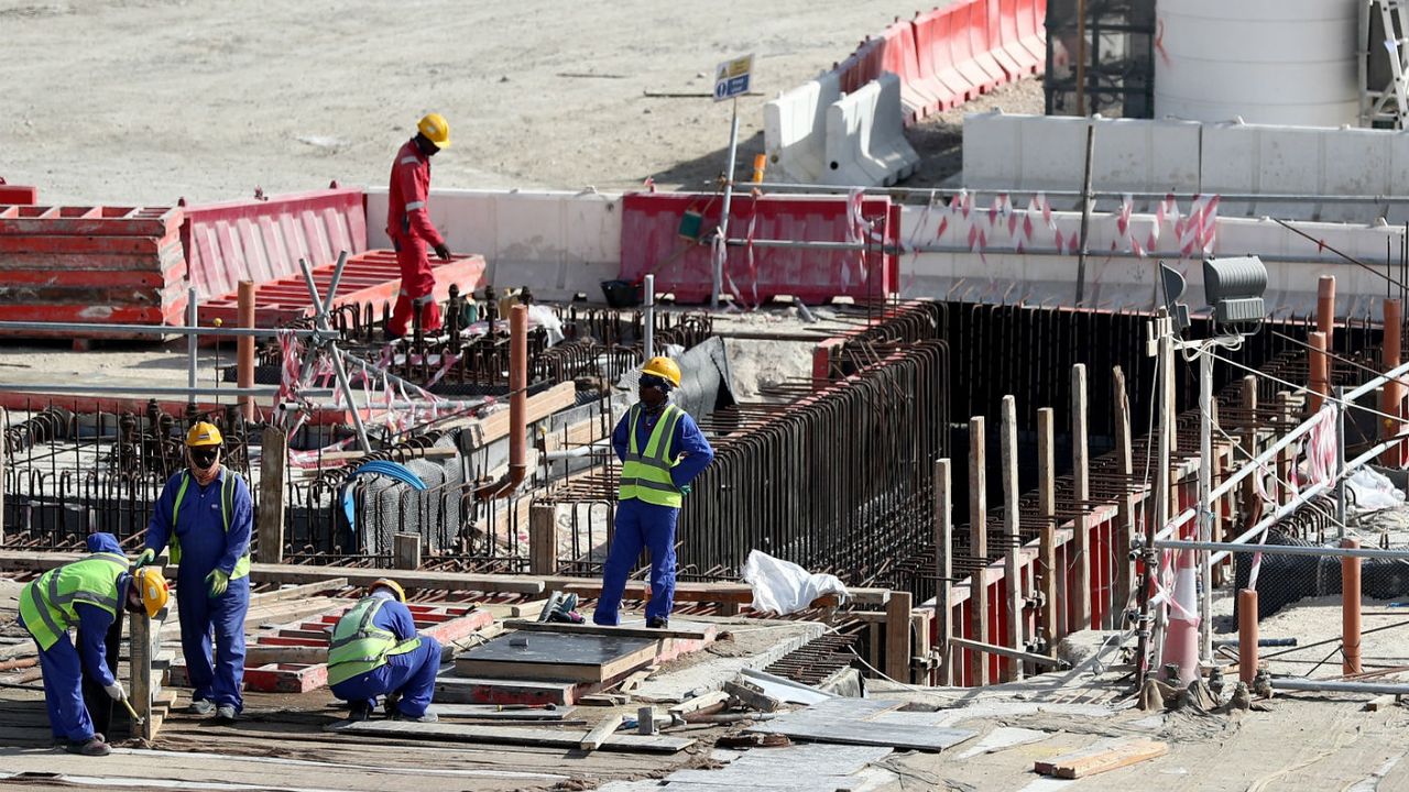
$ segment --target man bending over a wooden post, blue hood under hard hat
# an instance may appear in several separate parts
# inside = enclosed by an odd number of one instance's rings
[[[106,757],[107,740],[93,729],[83,703],[83,675],[101,681],[114,702],[127,691],[107,662],[104,638],[123,605],[148,616],[166,607],[166,581],[161,569],[131,571],[113,534],[93,534],[89,557],[39,575],[20,592],[20,624],[39,647],[44,705],[56,744],[72,754]],[[68,631],[79,629],[79,647]]]

